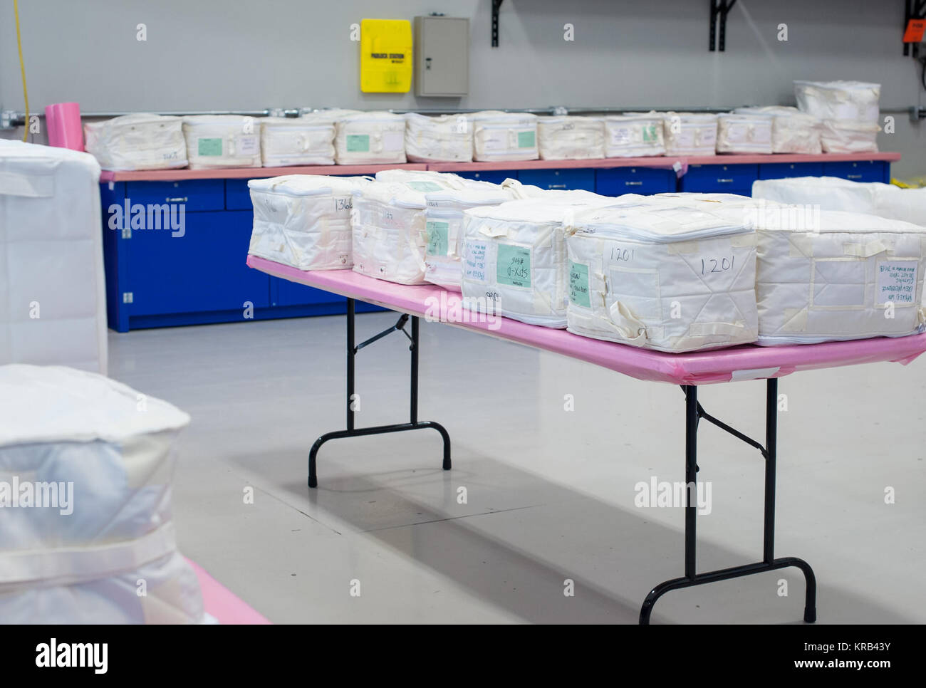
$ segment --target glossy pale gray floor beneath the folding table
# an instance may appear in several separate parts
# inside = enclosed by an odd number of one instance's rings
[[[357,340],[394,319],[358,316]],[[193,417],[182,551],[274,622],[634,623],[682,575],[682,509],[634,507],[637,482],[683,480],[677,387],[422,322],[419,417],[444,423],[454,469],[433,431],[336,440],[310,491],[309,447],[344,428],[343,317],[111,332],[110,375]],[[358,425],[407,420],[405,337],[364,349],[357,381]],[[926,622],[926,360],[780,392],[776,555],[814,567],[821,623]],[[700,394],[763,439],[764,382]],[[707,423],[699,443],[698,569],[759,560],[762,458]],[[653,621],[792,623],[803,598],[785,569],[667,594]]]

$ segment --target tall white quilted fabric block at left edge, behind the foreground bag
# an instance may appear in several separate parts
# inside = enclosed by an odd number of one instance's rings
[[[106,373],[99,178],[87,153],[0,140],[0,363]]]

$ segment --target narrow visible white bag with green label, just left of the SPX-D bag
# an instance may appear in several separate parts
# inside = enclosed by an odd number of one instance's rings
[[[497,206],[511,200],[511,194],[496,184],[477,182],[482,186],[466,185],[453,191],[425,195],[426,245],[424,249],[424,279],[454,292],[459,292],[463,255],[463,211],[470,207]]]

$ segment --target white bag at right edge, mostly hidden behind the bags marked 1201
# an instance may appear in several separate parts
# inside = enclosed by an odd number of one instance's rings
[[[926,227],[926,188],[901,189],[881,181],[838,177],[794,177],[754,181],[753,198],[878,215]]]

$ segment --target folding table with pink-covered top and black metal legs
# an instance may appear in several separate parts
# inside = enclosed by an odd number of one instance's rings
[[[432,428],[444,440],[444,470],[450,469],[450,435],[439,423],[418,419],[418,360],[419,319],[441,321],[470,331],[481,332],[509,342],[527,344],[544,351],[577,358],[602,368],[616,370],[638,380],[679,384],[685,394],[685,558],[681,578],[659,583],[644,599],[640,623],[649,623],[657,599],[669,591],[680,590],[708,582],[725,581],[775,569],[801,569],[807,582],[804,620],[817,619],[817,582],[813,569],[797,557],[775,557],[775,462],[778,421],[778,378],[799,370],[835,368],[859,363],[896,361],[907,364],[926,351],[926,333],[907,337],[877,337],[851,342],[826,342],[786,346],[746,344],[726,349],[669,354],[640,349],[626,344],[603,342],[581,337],[565,330],[527,325],[500,316],[486,318],[457,307],[460,294],[446,292],[432,285],[407,286],[375,280],[352,270],[304,271],[273,261],[248,256],[247,264],[285,280],[307,284],[333,294],[347,297],[347,428],[327,432],[312,445],[308,455],[308,486],[318,485],[316,457],[322,444],[329,440],[382,432],[402,432]],[[361,344],[355,343],[355,299],[383,306],[400,313],[395,325]],[[455,301],[454,299],[457,299]],[[405,330],[411,320],[411,333]],[[357,428],[354,423],[354,359],[357,352],[394,331],[403,332],[410,341],[411,384],[410,418],[406,423]],[[702,384],[766,380],[765,444],[746,436],[716,419],[697,401],[697,388]],[[755,447],[765,459],[765,519],[762,560],[720,569],[697,572],[695,568],[695,525],[697,505],[692,486],[696,484],[697,427],[707,420],[721,430]]]

